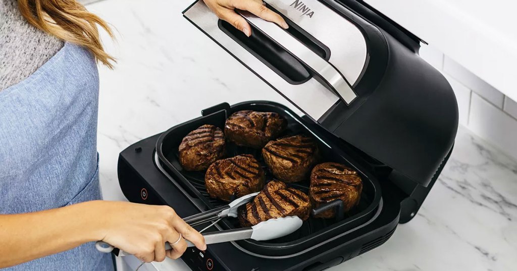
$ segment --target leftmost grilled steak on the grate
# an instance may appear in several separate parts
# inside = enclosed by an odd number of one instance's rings
[[[178,148],[185,170],[205,170],[224,156],[224,134],[214,125],[203,125],[188,133]]]

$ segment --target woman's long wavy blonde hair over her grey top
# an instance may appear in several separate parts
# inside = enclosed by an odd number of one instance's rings
[[[59,39],[86,47],[97,61],[113,68],[115,58],[104,51],[97,25],[113,38],[110,27],[77,1],[18,0],[18,8],[33,26]]]

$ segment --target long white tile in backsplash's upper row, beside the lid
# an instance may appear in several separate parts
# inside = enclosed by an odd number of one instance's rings
[[[474,73],[468,71],[463,66],[452,60],[450,57],[444,57],[444,72],[452,76],[458,82],[467,86],[481,97],[491,102],[499,108],[503,108],[504,94],[495,89],[493,86],[484,82]]]

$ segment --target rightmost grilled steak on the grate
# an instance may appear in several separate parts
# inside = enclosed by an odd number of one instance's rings
[[[359,203],[362,192],[362,180],[357,171],[338,163],[323,163],[311,172],[309,196],[311,202],[318,206],[340,199],[344,211],[348,212]],[[327,210],[316,217],[331,218],[336,215],[334,209]]]

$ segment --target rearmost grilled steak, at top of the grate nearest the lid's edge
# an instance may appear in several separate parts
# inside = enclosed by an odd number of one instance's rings
[[[260,149],[286,127],[287,121],[278,113],[242,110],[226,120],[224,134],[238,146]]]

